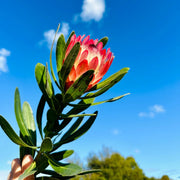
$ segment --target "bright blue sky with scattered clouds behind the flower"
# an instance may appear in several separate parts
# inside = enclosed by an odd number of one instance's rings
[[[115,59],[106,77],[130,67],[126,77],[98,100],[127,92],[121,101],[99,110],[90,131],[64,148],[86,159],[102,146],[134,156],[147,176],[180,176],[180,1],[52,0],[2,1],[0,6],[0,114],[18,132],[14,91],[34,114],[41,96],[35,65],[49,62],[49,46],[58,23],[67,38],[90,34],[109,37]],[[0,180],[5,179],[18,147],[0,130]]]

